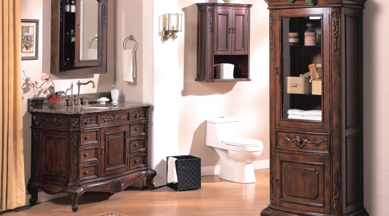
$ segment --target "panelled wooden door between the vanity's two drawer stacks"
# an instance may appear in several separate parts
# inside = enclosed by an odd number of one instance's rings
[[[127,170],[128,126],[101,129],[101,176],[109,176]]]

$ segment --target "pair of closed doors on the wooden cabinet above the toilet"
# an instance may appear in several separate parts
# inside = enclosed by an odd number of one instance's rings
[[[215,54],[248,54],[248,10],[217,9]]]

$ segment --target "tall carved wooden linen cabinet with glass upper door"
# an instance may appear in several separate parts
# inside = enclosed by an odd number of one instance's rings
[[[365,1],[265,0],[270,204],[262,216],[368,215],[362,137]]]

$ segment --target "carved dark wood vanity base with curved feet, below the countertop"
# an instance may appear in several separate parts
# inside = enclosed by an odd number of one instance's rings
[[[116,193],[156,171],[147,166],[148,106],[88,114],[31,112],[31,179],[27,189],[68,193],[72,210],[86,191]]]

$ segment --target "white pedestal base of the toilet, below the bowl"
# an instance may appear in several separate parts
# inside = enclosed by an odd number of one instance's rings
[[[219,178],[237,183],[255,183],[253,163],[223,163],[220,166]]]

